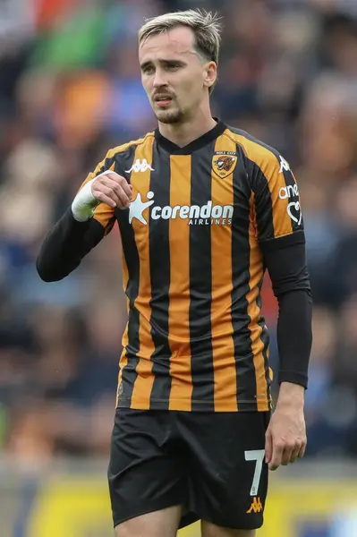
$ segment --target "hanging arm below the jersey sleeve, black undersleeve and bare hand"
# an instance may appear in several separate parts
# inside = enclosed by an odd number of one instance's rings
[[[266,447],[269,468],[276,470],[280,464],[295,462],[305,452],[303,403],[312,342],[312,300],[303,243],[268,251],[265,260],[279,305],[280,390]]]

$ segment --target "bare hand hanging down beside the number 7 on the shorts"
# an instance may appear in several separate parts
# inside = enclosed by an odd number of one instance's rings
[[[284,386],[285,385],[285,386]],[[266,462],[269,470],[294,463],[306,448],[306,427],[301,386],[282,383],[266,432]]]

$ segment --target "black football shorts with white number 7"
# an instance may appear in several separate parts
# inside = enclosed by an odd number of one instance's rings
[[[235,529],[263,524],[269,413],[117,409],[108,480],[114,525],[183,505],[196,520]]]

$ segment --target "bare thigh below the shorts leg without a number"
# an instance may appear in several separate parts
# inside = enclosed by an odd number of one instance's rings
[[[115,537],[176,537],[183,508],[167,507],[115,526]]]

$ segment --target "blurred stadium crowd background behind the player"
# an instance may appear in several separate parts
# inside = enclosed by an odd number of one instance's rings
[[[2,537],[112,535],[106,461],[125,323],[118,232],[58,284],[41,282],[34,260],[106,149],[155,126],[137,64],[144,17],[192,6],[225,17],[215,114],[290,162],[306,226],[309,444],[304,461],[272,476],[258,534],[357,535],[356,0],[2,0]],[[268,280],[264,313],[276,369]]]

